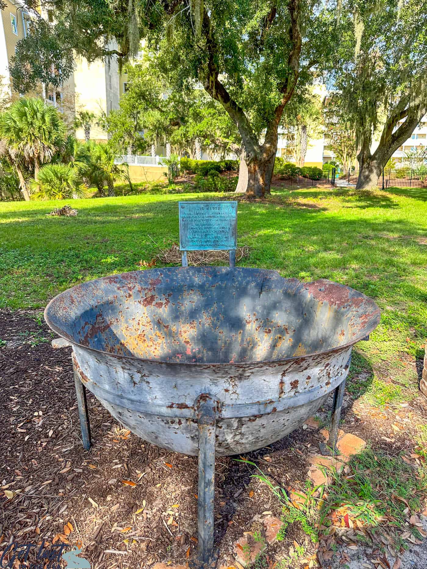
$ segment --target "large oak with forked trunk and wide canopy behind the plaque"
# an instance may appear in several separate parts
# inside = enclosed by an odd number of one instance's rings
[[[174,88],[200,84],[235,123],[255,195],[269,191],[286,104],[330,59],[340,35],[334,7],[318,0],[44,2],[55,23],[40,19],[18,42],[15,88],[24,92],[36,79],[58,85],[72,71],[73,51],[88,61],[125,61],[146,38]]]

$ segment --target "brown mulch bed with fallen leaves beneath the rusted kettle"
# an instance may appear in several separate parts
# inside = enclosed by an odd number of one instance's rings
[[[93,446],[85,451],[71,349],[51,348],[52,335],[40,315],[0,310],[0,558],[11,542],[44,539],[47,547],[52,541],[83,542],[82,555],[92,569],[149,569],[167,560],[185,564],[197,541],[197,459],[130,434],[89,393]],[[393,453],[396,445],[405,446],[405,438],[395,437],[393,443],[382,438],[381,430],[391,430],[386,419],[361,418],[350,401],[344,412],[348,430],[377,438]],[[425,412],[422,402],[415,412]],[[299,429],[245,457],[256,460],[277,484],[297,488],[306,480],[306,456],[317,450],[318,439],[310,429]],[[252,473],[233,457],[216,460],[218,567],[233,564],[233,544],[251,530],[255,514],[280,517],[280,504]],[[305,534],[291,528],[284,541],[268,547],[270,566],[288,554],[294,540],[314,553]],[[35,548],[29,561],[34,554]]]

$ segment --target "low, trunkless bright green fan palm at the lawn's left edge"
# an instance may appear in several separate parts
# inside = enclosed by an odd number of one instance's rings
[[[71,164],[46,164],[30,180],[32,200],[65,200],[85,197],[88,187]]]

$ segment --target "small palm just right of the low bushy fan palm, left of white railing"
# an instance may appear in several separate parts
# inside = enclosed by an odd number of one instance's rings
[[[108,196],[113,197],[114,182],[126,178],[121,168],[114,164],[116,155],[108,144],[91,145],[91,163],[87,176],[90,182],[98,188],[100,196],[104,196],[104,184],[108,185]]]

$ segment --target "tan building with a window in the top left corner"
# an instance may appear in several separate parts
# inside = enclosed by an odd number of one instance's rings
[[[28,34],[31,19],[23,2],[5,0],[6,7],[0,10],[0,76],[1,96],[12,94],[9,75],[9,62],[15,55],[15,46]]]

